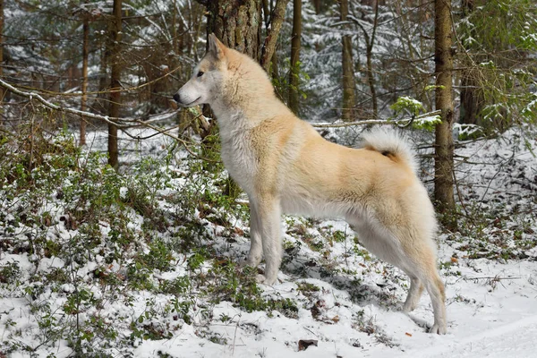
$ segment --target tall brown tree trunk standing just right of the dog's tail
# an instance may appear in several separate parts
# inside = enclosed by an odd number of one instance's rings
[[[434,199],[447,228],[456,227],[453,196],[453,99],[451,53],[451,0],[435,0],[436,108],[442,122],[436,126]]]

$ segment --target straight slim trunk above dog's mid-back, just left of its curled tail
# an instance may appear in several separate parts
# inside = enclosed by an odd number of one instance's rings
[[[346,21],[349,13],[348,0],[341,0],[340,15],[341,21]],[[348,30],[348,26],[344,25],[343,29]],[[354,120],[354,61],[353,61],[353,45],[351,36],[344,34],[342,38],[342,67],[343,67],[343,106],[341,117],[345,122]]]

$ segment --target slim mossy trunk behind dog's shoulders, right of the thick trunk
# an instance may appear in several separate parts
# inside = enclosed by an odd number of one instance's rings
[[[289,108],[298,114],[298,76],[300,38],[302,35],[302,0],[293,0],[293,31],[291,33],[291,68],[289,69]]]

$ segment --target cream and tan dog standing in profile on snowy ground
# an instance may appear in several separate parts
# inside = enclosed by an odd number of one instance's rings
[[[435,213],[416,175],[413,151],[396,132],[368,132],[361,149],[326,141],[277,98],[259,64],[214,34],[174,99],[181,107],[209,104],[217,117],[224,165],[250,200],[245,264],[255,268],[264,255],[261,283],[277,280],[282,213],[344,217],[363,246],[410,277],[403,310],[412,311],[427,289],[434,310],[430,332],[446,333],[446,298],[432,240]]]

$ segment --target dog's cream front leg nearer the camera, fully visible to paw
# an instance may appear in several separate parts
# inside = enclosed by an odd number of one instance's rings
[[[256,202],[260,219],[260,233],[265,255],[265,276],[258,277],[261,283],[272,285],[277,280],[277,272],[282,262],[280,242],[280,203],[274,196],[265,196]]]

